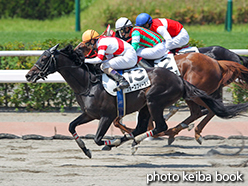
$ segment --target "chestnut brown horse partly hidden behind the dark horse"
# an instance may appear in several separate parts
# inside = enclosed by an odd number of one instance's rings
[[[81,46],[83,47],[83,46]],[[84,48],[87,54],[89,49]],[[90,55],[88,55],[90,56]],[[241,85],[243,81],[248,83],[248,68],[232,61],[217,61],[201,53],[188,53],[176,55],[175,60],[181,76],[197,88],[204,90],[209,95],[221,99],[221,90],[224,86],[234,82],[238,78]],[[195,128],[195,139],[201,144],[201,132],[206,124],[214,117],[213,112],[206,112],[192,100],[185,100],[190,109],[190,116],[176,127],[169,129],[159,135],[169,135],[169,144],[174,141],[175,135],[181,130],[188,128],[189,124],[207,114],[207,116]],[[133,129],[120,124],[120,118],[114,120],[114,125],[121,130],[130,133]],[[150,127],[151,129],[151,127]]]

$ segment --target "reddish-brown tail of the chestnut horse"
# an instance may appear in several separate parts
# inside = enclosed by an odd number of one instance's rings
[[[222,69],[221,83],[223,86],[230,84],[235,79],[238,79],[241,85],[244,85],[243,82],[248,84],[248,68],[233,61],[219,60],[218,63]]]

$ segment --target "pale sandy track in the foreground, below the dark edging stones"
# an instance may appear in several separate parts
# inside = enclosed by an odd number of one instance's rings
[[[147,179],[156,179],[150,185],[226,184],[217,182],[220,177],[216,178],[216,171],[225,174],[225,179],[231,175],[232,180],[239,179],[237,176],[243,180],[229,185],[248,182],[248,146],[239,155],[230,156],[240,149],[241,140],[208,140],[202,146],[193,140],[177,139],[172,146],[167,146],[165,139],[144,141],[135,155],[130,153],[130,142],[112,151],[101,151],[93,140],[84,141],[92,151],[92,159],[83,154],[74,140],[1,140],[0,185],[138,186],[146,185]],[[210,153],[213,149],[222,155]],[[172,180],[179,180],[165,182],[168,174],[173,175]],[[189,174],[193,180],[205,176],[211,181],[193,181]],[[197,177],[199,174],[201,178]]]

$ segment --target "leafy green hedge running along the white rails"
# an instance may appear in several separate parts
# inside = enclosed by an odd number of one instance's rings
[[[57,43],[60,48],[68,44],[76,46],[79,39],[55,40],[49,39],[42,43],[22,42],[0,45],[0,50],[46,50]],[[191,46],[203,47],[198,40],[190,39]],[[0,57],[0,69],[30,69],[39,57]],[[238,86],[230,89],[234,95],[234,102],[246,102],[248,94]],[[65,108],[72,109],[76,106],[74,92],[65,83],[0,83],[0,107],[21,108],[28,111],[51,111]]]

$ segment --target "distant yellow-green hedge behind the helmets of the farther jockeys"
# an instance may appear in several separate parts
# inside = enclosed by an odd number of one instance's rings
[[[122,2],[121,2],[122,3]],[[225,23],[226,7],[219,7],[218,9],[201,8],[197,10],[191,6],[182,9],[174,9],[171,12],[164,11],[164,7],[151,6],[129,6],[116,4],[108,6],[103,12],[104,25],[110,24],[114,28],[114,24],[119,17],[128,17],[132,23],[140,12],[146,12],[152,18],[169,18],[179,21],[187,25],[204,25],[204,24],[222,24]],[[138,3],[138,2],[137,2]],[[248,23],[248,7],[237,7],[237,11],[233,13],[233,23]]]

